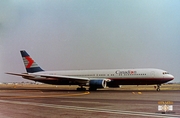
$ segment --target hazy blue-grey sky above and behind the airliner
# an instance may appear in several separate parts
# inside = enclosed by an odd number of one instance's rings
[[[180,82],[179,0],[1,0],[0,82],[45,70],[159,68]]]

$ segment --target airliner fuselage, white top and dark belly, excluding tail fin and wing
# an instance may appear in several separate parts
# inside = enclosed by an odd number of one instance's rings
[[[64,75],[82,78],[84,77],[89,78],[90,80],[110,79],[111,82],[108,83],[110,86],[162,84],[174,79],[174,77],[171,74],[167,73],[167,71],[151,68],[42,71],[37,72],[37,74]]]

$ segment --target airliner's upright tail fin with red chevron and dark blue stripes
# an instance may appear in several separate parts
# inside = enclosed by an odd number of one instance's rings
[[[44,71],[38,64],[29,56],[29,54],[25,50],[20,51],[26,71],[28,73],[40,72]]]

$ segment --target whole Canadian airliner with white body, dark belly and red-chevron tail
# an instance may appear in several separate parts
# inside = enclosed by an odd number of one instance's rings
[[[78,85],[78,91],[86,90],[85,86],[95,91],[121,85],[157,85],[156,90],[160,91],[161,84],[174,79],[167,71],[154,68],[45,71],[25,50],[20,53],[27,73],[6,74],[52,85]]]

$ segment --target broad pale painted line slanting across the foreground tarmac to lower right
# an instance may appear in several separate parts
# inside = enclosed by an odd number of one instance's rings
[[[22,102],[22,101],[19,102],[19,101],[8,101],[8,100],[0,100],[0,102],[10,103],[10,104],[19,104],[19,105],[32,105],[32,106],[39,106],[39,107],[58,108],[58,109],[71,109],[71,110],[80,110],[80,111],[89,111],[89,112],[123,114],[123,115],[132,115],[132,116],[148,116],[148,117],[157,117],[157,118],[179,118],[180,117],[180,115],[173,115],[173,114],[123,111],[123,110],[101,109],[101,108],[91,108],[91,107],[34,103],[34,102]]]

